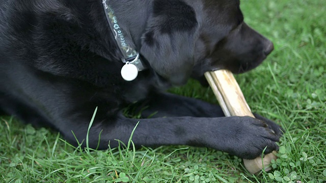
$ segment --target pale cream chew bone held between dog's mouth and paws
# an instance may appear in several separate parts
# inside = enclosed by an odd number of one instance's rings
[[[244,99],[241,89],[236,82],[233,74],[228,70],[218,70],[206,72],[205,77],[218,99],[225,116],[251,116],[251,112],[246,99]],[[257,173],[264,167],[265,171],[270,170],[270,161],[276,160],[276,152],[267,154],[263,159],[257,157],[254,160],[243,159],[243,164],[250,173]]]

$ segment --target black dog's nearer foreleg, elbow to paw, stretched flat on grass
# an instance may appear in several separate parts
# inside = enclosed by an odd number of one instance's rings
[[[138,122],[132,136],[136,146],[205,146],[246,159],[256,158],[266,146],[265,153],[278,148],[275,142],[279,140],[279,135],[272,133],[263,121],[252,117],[131,119],[120,114],[114,119],[103,118],[103,112],[97,113],[89,131],[89,144],[92,148],[99,144],[99,149],[105,149],[109,142],[111,147],[115,147],[119,144],[116,139],[127,143]],[[84,140],[85,146],[88,129],[85,118],[70,118],[63,121],[58,128],[70,142],[74,142],[76,137],[80,142]]]

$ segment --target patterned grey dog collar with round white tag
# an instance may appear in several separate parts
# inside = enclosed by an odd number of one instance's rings
[[[139,53],[132,47],[132,44],[129,43],[128,39],[126,39],[121,27],[118,24],[118,20],[113,9],[106,2],[107,0],[102,0],[105,17],[120,52],[123,55],[121,61],[125,63],[125,65],[121,68],[121,76],[126,81],[132,81],[138,76],[138,72],[145,70],[146,67],[140,59]]]

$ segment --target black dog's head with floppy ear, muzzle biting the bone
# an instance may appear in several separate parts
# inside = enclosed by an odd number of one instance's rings
[[[172,84],[191,75],[258,66],[273,44],[243,22],[239,0],[154,0],[141,54]]]

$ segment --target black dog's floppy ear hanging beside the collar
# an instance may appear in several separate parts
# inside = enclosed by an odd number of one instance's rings
[[[194,9],[180,0],[155,0],[142,37],[141,54],[172,84],[184,84],[195,65],[199,37]]]

